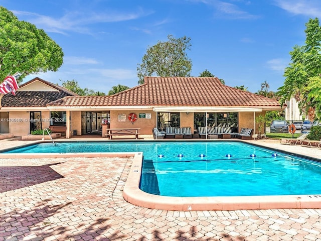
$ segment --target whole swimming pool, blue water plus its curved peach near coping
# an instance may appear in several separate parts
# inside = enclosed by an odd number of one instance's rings
[[[137,152],[138,155],[135,155],[124,188],[124,198],[135,205],[151,208],[169,210],[190,210],[191,208],[193,210],[212,210],[217,208],[231,210],[235,209],[236,206],[249,208],[249,203],[254,208],[266,208],[264,206],[266,203],[278,203],[272,205],[274,208],[279,207],[280,203],[282,207],[285,205],[288,208],[298,208],[302,207],[303,202],[306,203],[306,199],[319,196],[318,194],[321,193],[318,187],[314,190],[305,189],[306,187],[317,186],[315,184],[317,184],[317,180],[320,180],[320,165],[318,162],[281,152],[275,153],[275,151],[269,149],[236,141],[76,142],[57,143],[56,146],[52,143],[46,143],[14,149],[7,153],[21,153],[22,151],[27,153]],[[141,153],[143,153],[143,158],[139,156]],[[91,155],[93,156],[94,153]],[[175,164],[176,167],[172,164]],[[265,175],[270,164],[275,166],[269,168],[270,174]],[[299,170],[301,167],[303,171]],[[285,171],[290,172],[284,175]],[[315,176],[311,173],[314,173]],[[173,177],[169,178],[169,174]],[[196,178],[188,183],[187,180],[190,176]],[[224,178],[216,179],[219,176],[224,176]],[[240,185],[241,176],[247,181],[245,185]],[[261,176],[266,176],[267,181],[262,181]],[[274,183],[274,179],[277,180],[277,184]],[[155,185],[149,185],[152,181],[155,181]],[[144,192],[139,190],[138,186]],[[148,186],[152,187],[151,190],[146,189]],[[205,186],[208,186],[208,188],[203,188]],[[244,188],[244,186],[248,188]],[[281,191],[271,193],[270,191],[278,189],[275,186],[281,187]],[[284,187],[285,189],[282,189]],[[164,193],[164,190],[170,190],[172,193]],[[182,193],[182,190],[186,192]],[[210,193],[210,190],[217,192]],[[268,192],[263,193],[263,191]],[[260,195],[263,195],[260,201],[253,198]],[[233,199],[222,201],[222,198],[224,199],[226,196],[231,196]],[[270,200],[271,196],[274,196],[275,199]],[[155,197],[158,197],[158,199]],[[237,199],[235,199],[236,197]],[[288,200],[289,197],[291,197],[290,200]],[[197,201],[195,201],[196,198]],[[312,199],[314,205],[318,199]],[[311,199],[307,200],[308,203],[311,203],[310,201]],[[237,204],[239,202],[242,203],[241,206]],[[164,203],[167,204],[164,206]],[[231,206],[227,206],[227,203]],[[208,207],[208,204],[211,207]],[[317,205],[319,206],[319,204]],[[311,207],[311,205],[309,206]],[[268,207],[271,208],[271,205],[268,205]]]

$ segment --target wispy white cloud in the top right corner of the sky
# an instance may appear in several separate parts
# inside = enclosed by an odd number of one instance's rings
[[[291,14],[321,17],[319,0],[274,0],[275,5]]]

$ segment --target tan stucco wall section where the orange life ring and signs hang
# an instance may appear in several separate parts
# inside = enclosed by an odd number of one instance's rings
[[[130,113],[135,113],[137,115],[137,119],[135,122],[131,123],[128,119],[128,115]],[[150,114],[151,118],[139,118],[139,113]],[[124,122],[118,121],[118,114],[125,114],[126,119]],[[111,110],[110,111],[110,128],[140,128],[141,135],[151,135],[152,129],[156,127],[156,112],[152,110],[135,110],[135,111],[127,111],[127,110]]]

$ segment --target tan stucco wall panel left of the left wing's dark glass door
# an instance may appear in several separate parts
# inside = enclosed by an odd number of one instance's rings
[[[26,111],[11,111],[9,113],[9,133],[15,137],[21,137],[30,134],[30,112]]]

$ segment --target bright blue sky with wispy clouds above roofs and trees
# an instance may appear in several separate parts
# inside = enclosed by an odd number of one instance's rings
[[[283,85],[294,45],[303,45],[305,24],[321,17],[319,0],[0,0],[19,20],[33,23],[59,44],[57,72],[29,75],[108,93],[137,85],[137,65],[158,41],[191,38],[191,76],[205,69],[226,85],[270,90]]]

